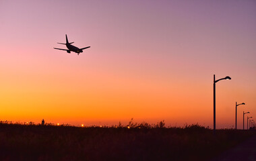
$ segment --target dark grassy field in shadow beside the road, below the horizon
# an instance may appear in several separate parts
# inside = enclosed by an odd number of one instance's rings
[[[0,123],[0,160],[209,160],[255,135],[253,130],[161,123],[72,127]]]

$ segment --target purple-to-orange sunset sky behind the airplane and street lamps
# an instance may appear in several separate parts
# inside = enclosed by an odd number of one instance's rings
[[[0,120],[238,129],[256,120],[256,1],[0,0]],[[57,42],[83,53],[68,54]],[[247,119],[245,119],[246,123]],[[245,124],[247,125],[247,124]]]

